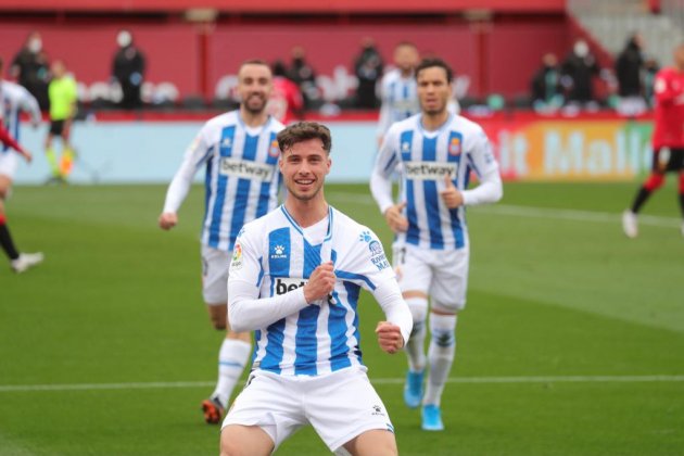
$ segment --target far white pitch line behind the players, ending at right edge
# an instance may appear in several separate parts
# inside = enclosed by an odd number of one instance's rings
[[[330,200],[341,201],[344,203],[356,203],[364,205],[375,205],[375,201],[368,194],[363,193],[350,193],[339,192],[331,193]],[[469,211],[474,211],[484,214],[496,215],[510,215],[514,217],[534,217],[534,218],[550,218],[560,220],[572,221],[596,221],[601,224],[620,225],[621,213],[610,212],[595,212],[595,211],[578,211],[578,210],[563,210],[552,207],[535,207],[535,206],[518,206],[511,204],[492,204],[469,207]],[[682,223],[679,217],[662,217],[658,215],[639,215],[639,224],[649,225],[655,227],[673,228]]]

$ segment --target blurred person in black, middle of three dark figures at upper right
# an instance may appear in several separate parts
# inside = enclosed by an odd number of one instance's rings
[[[586,41],[583,39],[575,41],[572,52],[561,65],[561,84],[568,91],[568,102],[585,106],[596,103],[593,78],[599,75],[600,68]]]

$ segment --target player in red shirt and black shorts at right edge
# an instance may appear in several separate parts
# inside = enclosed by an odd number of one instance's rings
[[[656,75],[654,92],[653,166],[632,207],[622,214],[622,229],[628,238],[638,235],[637,214],[650,195],[662,187],[667,173],[680,174],[679,199],[684,217],[684,43],[674,49],[674,66],[662,68]],[[681,231],[684,236],[684,220]]]

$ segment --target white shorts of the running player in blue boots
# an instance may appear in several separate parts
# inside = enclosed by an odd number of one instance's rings
[[[470,248],[429,250],[416,245],[395,245],[392,264],[402,292],[420,291],[432,300],[432,307],[458,312],[466,306]]]

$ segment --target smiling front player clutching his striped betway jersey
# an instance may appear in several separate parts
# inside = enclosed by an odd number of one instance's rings
[[[376,334],[390,354],[411,316],[382,245],[324,194],[331,138],[320,124],[278,135],[284,204],[246,224],[228,278],[229,315],[255,330],[253,370],[224,421],[221,455],[269,455],[311,423],[330,451],[396,455],[392,423],[362,364],[358,295],[384,311]]]

